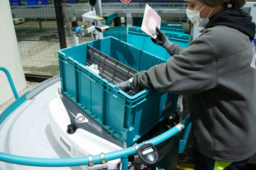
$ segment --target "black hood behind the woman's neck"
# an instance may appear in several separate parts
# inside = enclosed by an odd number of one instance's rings
[[[241,9],[227,9],[215,14],[205,28],[215,26],[227,26],[239,30],[248,35],[251,41],[255,37],[255,23],[252,22],[252,16]]]

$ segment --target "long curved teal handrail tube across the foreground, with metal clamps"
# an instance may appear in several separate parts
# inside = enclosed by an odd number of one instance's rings
[[[191,122],[191,117],[188,115],[185,119],[183,119],[178,125],[173,128],[167,130],[166,132],[148,140],[148,143],[152,143],[153,145],[158,145],[164,140],[169,139],[176,133],[183,130],[189,123]],[[138,146],[143,145],[144,143],[138,144]],[[136,149],[134,146],[127,147],[125,149],[117,150],[114,152],[105,153],[105,160],[110,161],[114,159],[123,158],[125,156],[129,156],[131,154],[135,154]],[[94,155],[92,156],[93,164],[101,163],[101,156]],[[0,152],[0,161],[9,162],[14,164],[22,164],[28,166],[43,166],[43,167],[64,167],[64,166],[81,166],[88,165],[88,156],[85,157],[74,157],[74,158],[34,158],[34,157],[23,157],[16,156],[12,154],[2,153]]]

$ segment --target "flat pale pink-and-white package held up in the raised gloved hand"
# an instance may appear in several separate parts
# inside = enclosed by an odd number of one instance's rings
[[[141,25],[141,30],[150,35],[150,37],[157,38],[155,28],[160,29],[161,17],[148,5],[146,4],[144,17]]]

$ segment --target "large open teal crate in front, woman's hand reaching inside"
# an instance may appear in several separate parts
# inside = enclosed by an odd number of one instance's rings
[[[151,89],[128,95],[85,67],[87,45],[137,71],[166,61],[114,37],[58,51],[63,93],[109,133],[131,146],[175,111],[178,95]]]

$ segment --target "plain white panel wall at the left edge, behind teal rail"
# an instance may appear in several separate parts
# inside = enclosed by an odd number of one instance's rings
[[[12,76],[17,92],[27,87],[19,47],[13,25],[9,0],[0,0],[0,67]],[[0,71],[0,105],[12,98],[13,92],[6,75]]]

